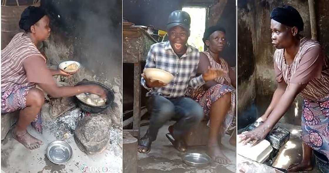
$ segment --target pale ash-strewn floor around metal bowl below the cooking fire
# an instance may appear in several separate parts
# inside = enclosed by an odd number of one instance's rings
[[[50,117],[44,115],[44,121],[51,121]],[[38,133],[31,126],[28,132],[42,140],[44,144],[37,150],[28,150],[17,142],[10,133],[1,141],[1,170],[5,173],[78,173],[82,170],[96,172],[97,170],[114,173],[122,173],[122,130],[111,129],[110,142],[100,154],[86,155],[70,139],[73,155],[68,163],[57,165],[52,163],[46,156],[47,145],[56,140],[56,137],[49,131]],[[98,172],[99,172],[98,171]]]

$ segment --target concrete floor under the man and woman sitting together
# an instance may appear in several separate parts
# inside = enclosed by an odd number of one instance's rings
[[[148,154],[138,153],[138,173],[233,173],[236,172],[236,150],[235,146],[229,144],[229,135],[223,137],[224,154],[231,160],[233,165],[223,165],[212,162],[209,166],[195,168],[182,162],[181,153],[178,152],[165,137],[168,126],[174,122],[167,123],[159,130],[157,140],[152,143],[151,152]],[[144,135],[148,126],[141,127],[141,135]],[[188,152],[204,153],[205,146],[189,147]]]

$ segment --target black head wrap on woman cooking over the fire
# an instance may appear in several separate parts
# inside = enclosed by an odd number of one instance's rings
[[[28,32],[30,27],[37,23],[44,15],[46,15],[46,12],[40,7],[27,7],[21,14],[19,28]]]

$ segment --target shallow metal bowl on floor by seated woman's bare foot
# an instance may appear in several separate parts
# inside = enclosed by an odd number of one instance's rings
[[[188,153],[183,155],[182,159],[184,163],[194,167],[204,167],[210,163],[210,157],[200,153]]]

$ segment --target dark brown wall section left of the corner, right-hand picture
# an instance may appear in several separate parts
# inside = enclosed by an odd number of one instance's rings
[[[254,44],[254,13],[250,5],[238,3],[238,129],[256,119],[256,63]]]

